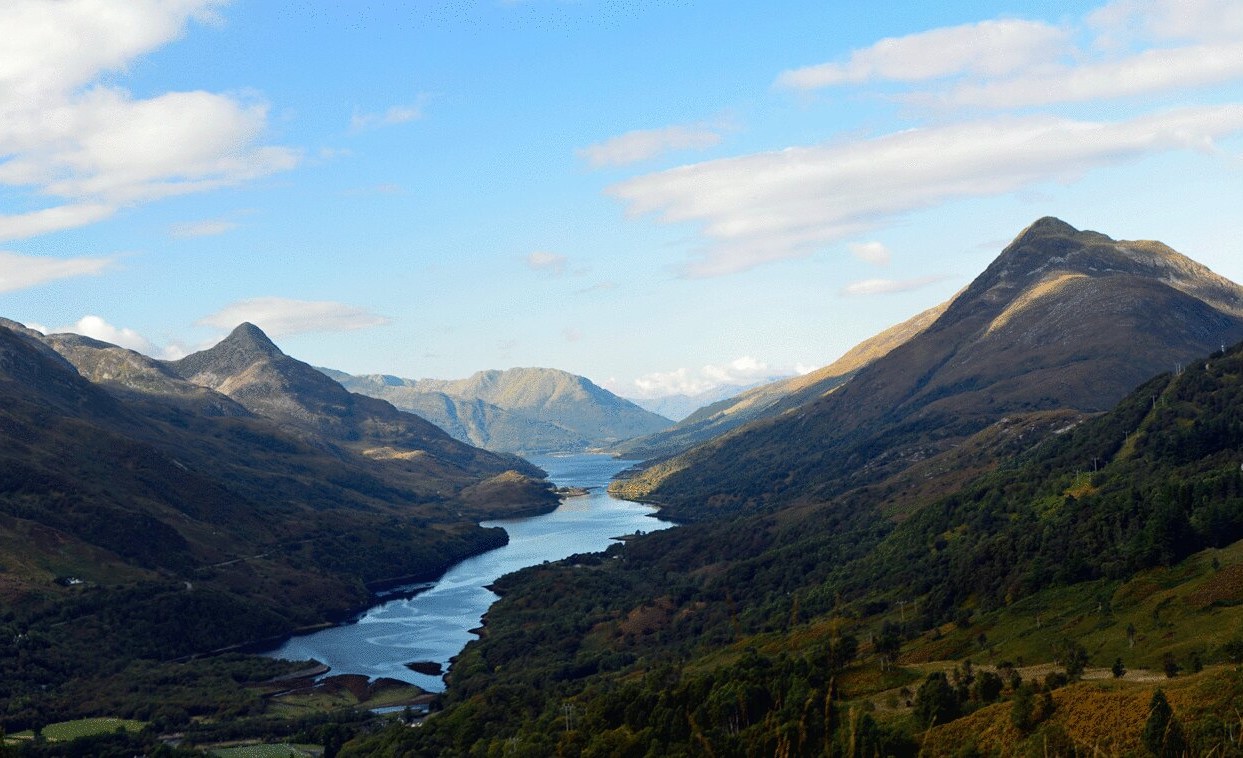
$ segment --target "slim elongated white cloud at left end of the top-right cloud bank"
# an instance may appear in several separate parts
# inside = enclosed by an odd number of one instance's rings
[[[999,76],[1055,61],[1068,50],[1064,29],[1039,21],[981,21],[886,37],[844,63],[784,71],[777,84],[815,89],[889,80],[920,82],[961,73]]]

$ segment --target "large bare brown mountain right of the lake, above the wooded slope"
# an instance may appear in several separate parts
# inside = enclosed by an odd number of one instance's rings
[[[1243,338],[1243,288],[1170,247],[1040,219],[935,322],[840,388],[658,462],[618,491],[680,518],[827,500],[1007,418],[1098,413]]]

